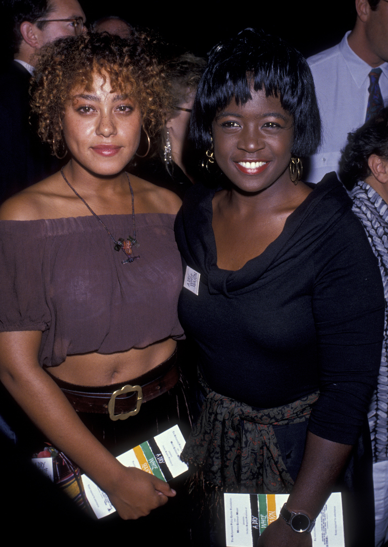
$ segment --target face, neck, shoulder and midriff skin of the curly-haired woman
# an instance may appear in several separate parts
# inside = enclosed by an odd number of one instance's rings
[[[123,168],[136,152],[141,126],[142,115],[136,101],[111,92],[109,79],[104,82],[98,74],[87,94],[75,88],[66,103],[62,127],[72,158],[63,172],[97,215],[132,214],[131,191]],[[101,145],[115,146],[119,152],[108,157],[96,153],[94,147]],[[172,192],[132,175],[130,180],[136,213],[176,214],[179,210],[181,200]],[[0,209],[2,220],[91,214],[60,172],[11,197]],[[69,356],[53,369],[53,374],[80,385],[126,381],[163,362],[175,346],[176,342],[170,339],[119,354]]]

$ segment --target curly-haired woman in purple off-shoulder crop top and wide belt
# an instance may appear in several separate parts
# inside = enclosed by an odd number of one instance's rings
[[[181,202],[124,171],[169,103],[152,46],[94,34],[40,50],[33,112],[70,159],[0,212],[1,381],[122,519],[176,492],[115,456],[189,420],[176,355]]]

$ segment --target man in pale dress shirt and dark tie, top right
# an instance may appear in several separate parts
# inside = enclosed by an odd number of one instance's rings
[[[380,68],[381,96],[388,103],[388,0],[356,0],[352,31],[333,48],[309,57],[320,107],[323,141],[306,165],[305,180],[317,183],[338,173],[340,150],[350,131],[366,121],[369,72]]]

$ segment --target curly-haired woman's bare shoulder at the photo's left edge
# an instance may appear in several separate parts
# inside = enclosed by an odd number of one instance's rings
[[[4,201],[0,220],[40,220],[53,217],[56,174]]]

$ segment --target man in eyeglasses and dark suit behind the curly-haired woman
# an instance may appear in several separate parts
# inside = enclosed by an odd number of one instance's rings
[[[84,32],[77,0],[2,0],[4,23],[12,30],[13,61],[0,74],[0,202],[60,168],[28,119],[28,89],[39,49],[62,36]]]

